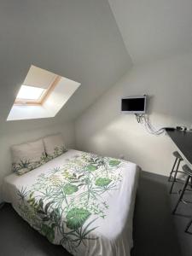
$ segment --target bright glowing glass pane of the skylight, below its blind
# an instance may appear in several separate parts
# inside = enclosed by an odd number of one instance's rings
[[[34,86],[21,85],[16,101],[40,101],[45,89]]]

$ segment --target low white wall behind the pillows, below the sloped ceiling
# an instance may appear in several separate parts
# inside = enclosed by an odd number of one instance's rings
[[[11,172],[11,154],[10,146],[18,143],[26,143],[27,141],[36,140],[49,134],[61,132],[67,148],[75,148],[74,141],[74,124],[73,122],[61,125],[53,125],[42,127],[41,129],[32,129],[28,131],[14,131],[14,123],[12,132],[0,135],[0,186],[3,177]],[[1,202],[1,194],[0,194]]]

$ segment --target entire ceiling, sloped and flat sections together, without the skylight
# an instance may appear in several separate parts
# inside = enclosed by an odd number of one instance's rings
[[[77,118],[132,60],[191,49],[192,0],[2,0],[0,34],[0,132],[35,129]],[[54,119],[8,124],[31,65],[81,86]]]

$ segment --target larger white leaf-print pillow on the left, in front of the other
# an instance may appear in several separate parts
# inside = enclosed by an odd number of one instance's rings
[[[11,153],[12,169],[18,175],[30,172],[42,166],[47,161],[42,139],[35,142],[14,145],[11,147]]]

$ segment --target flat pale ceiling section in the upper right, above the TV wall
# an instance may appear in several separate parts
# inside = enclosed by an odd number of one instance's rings
[[[192,49],[191,0],[108,0],[134,62]]]

